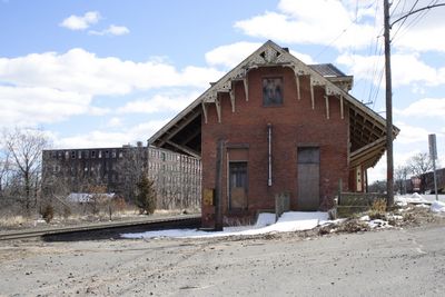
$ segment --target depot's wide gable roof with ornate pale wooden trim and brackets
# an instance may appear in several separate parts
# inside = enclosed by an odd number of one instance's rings
[[[219,110],[219,92],[228,92],[235,108],[231,95],[233,82],[244,81],[246,95],[248,87],[246,78],[250,69],[258,67],[283,66],[294,70],[296,77],[309,76],[313,87],[324,88],[327,96],[335,96],[342,105],[349,108],[350,121],[350,164],[365,168],[374,166],[385,151],[386,120],[374,110],[358,101],[347,91],[352,87],[352,77],[345,76],[330,63],[308,66],[290,55],[273,41],[265,42],[249,57],[227,72],[217,82],[211,83],[202,95],[179,112],[165,127],[148,139],[148,143],[200,157],[201,117],[207,118],[206,106],[215,103]],[[337,83],[336,83],[337,82]],[[347,87],[340,87],[345,82]],[[314,98],[313,98],[314,100]],[[343,116],[343,115],[342,115]],[[398,133],[393,126],[393,133]]]

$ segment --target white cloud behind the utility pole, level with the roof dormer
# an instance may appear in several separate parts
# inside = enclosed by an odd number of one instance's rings
[[[383,69],[383,56],[344,53],[336,62],[347,66],[356,79],[373,80],[378,86],[379,76],[375,75],[375,69],[377,73]],[[392,77],[393,87],[409,86],[415,82],[438,86],[445,83],[445,68],[435,69],[422,61],[416,53],[395,53],[392,55]]]

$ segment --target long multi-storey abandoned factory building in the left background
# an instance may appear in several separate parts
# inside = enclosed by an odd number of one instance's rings
[[[53,149],[42,154],[43,195],[113,192],[135,201],[142,174],[155,180],[158,208],[199,206],[200,160],[166,149],[129,145],[119,148]]]

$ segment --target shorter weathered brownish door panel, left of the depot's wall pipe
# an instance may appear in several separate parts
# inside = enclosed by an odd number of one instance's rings
[[[229,162],[229,210],[247,208],[247,162]]]

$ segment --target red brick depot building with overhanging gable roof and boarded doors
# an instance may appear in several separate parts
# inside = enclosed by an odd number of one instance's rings
[[[274,211],[280,194],[291,210],[323,209],[339,180],[366,191],[386,121],[348,93],[353,77],[267,41],[210,85],[148,140],[201,158],[202,227]]]

